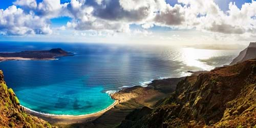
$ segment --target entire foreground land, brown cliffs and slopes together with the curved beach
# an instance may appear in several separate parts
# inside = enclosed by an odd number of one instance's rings
[[[153,80],[147,87],[123,88],[110,94],[115,102],[97,113],[53,116],[38,114],[20,105],[0,71],[0,122],[3,122],[0,125],[48,128],[256,126],[256,57],[211,71],[188,72],[190,76]]]

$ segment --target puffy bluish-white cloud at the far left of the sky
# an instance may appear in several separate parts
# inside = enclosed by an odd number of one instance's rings
[[[14,5],[0,10],[0,31],[6,35],[52,33],[47,20],[33,13],[25,14],[23,9]]]

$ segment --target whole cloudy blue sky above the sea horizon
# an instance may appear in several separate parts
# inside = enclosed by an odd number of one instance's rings
[[[246,45],[256,1],[0,0],[0,41]]]

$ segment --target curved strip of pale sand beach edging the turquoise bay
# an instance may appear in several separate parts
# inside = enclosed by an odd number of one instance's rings
[[[92,114],[78,115],[78,116],[41,114],[35,111],[31,111],[25,107],[24,109],[28,114],[44,119],[50,122],[51,124],[74,124],[74,123],[86,123],[89,121],[93,121],[99,116],[101,116],[102,114],[104,114],[106,111],[109,111],[110,109],[114,108],[116,104],[118,104],[117,100],[115,100],[114,103],[112,103],[110,106],[108,106],[108,108],[104,110],[101,110],[99,112],[92,113]]]

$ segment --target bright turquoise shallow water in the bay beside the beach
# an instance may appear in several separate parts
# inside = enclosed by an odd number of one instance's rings
[[[27,108],[55,115],[95,113],[108,108],[114,102],[106,93],[100,93],[103,91],[101,85],[98,87],[84,87],[83,80],[84,78],[65,81],[44,87],[24,89],[16,93],[22,99],[20,103]],[[28,95],[27,93],[30,94]],[[39,99],[31,100],[31,97]],[[44,97],[43,100],[41,97]],[[50,103],[52,104],[49,105]],[[54,109],[52,109],[53,104]]]

